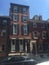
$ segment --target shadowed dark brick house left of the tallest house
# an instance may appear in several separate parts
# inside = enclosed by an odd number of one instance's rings
[[[7,44],[9,43],[10,17],[0,16],[0,57],[7,56]]]

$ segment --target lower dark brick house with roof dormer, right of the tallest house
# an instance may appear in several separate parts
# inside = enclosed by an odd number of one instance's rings
[[[49,22],[35,15],[30,20],[31,52],[33,54],[49,53]]]

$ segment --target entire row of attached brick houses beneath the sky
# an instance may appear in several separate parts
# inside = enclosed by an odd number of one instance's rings
[[[9,17],[0,16],[0,56],[25,53],[49,53],[49,20],[30,20],[29,6],[11,3]]]

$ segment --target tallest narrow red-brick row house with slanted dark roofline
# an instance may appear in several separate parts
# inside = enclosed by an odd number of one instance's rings
[[[10,43],[9,54],[30,52],[29,6],[10,4]]]

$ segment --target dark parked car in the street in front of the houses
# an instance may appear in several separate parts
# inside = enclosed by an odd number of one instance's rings
[[[24,56],[11,56],[3,59],[0,65],[36,65],[36,61]]]

